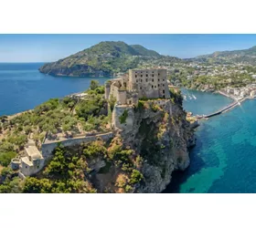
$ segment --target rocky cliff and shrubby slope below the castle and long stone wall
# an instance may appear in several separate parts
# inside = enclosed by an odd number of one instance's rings
[[[62,143],[23,192],[162,192],[195,144],[179,97],[114,106],[112,137]]]

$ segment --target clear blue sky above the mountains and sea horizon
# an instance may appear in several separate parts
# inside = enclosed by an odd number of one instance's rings
[[[256,46],[255,35],[3,35],[0,62],[51,62],[101,41],[139,44],[162,55],[197,57]]]

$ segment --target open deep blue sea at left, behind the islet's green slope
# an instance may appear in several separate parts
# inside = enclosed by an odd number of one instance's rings
[[[92,78],[53,77],[37,69],[43,63],[0,63],[0,116],[33,109],[49,98],[83,91]],[[107,78],[97,78],[102,84]]]

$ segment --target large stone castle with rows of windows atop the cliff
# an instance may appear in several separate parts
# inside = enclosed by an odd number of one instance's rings
[[[129,74],[106,82],[105,98],[117,105],[137,104],[139,98],[170,98],[165,69],[130,69]]]

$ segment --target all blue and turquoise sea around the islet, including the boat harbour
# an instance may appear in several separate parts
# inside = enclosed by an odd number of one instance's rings
[[[41,74],[43,63],[0,64],[0,116],[33,109],[48,98],[84,91],[91,79]],[[109,78],[97,78],[101,84]],[[182,88],[184,109],[209,114],[232,102],[219,94]],[[256,100],[201,120],[190,166],[175,171],[165,193],[256,192]]]

